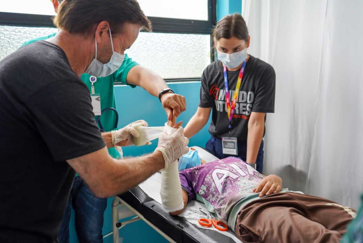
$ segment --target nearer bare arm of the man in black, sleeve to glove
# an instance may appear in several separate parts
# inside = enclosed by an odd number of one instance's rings
[[[165,166],[163,155],[159,151],[117,160],[111,158],[106,147],[67,162],[100,198],[125,192]]]

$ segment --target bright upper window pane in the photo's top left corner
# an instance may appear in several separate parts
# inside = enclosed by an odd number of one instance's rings
[[[1,0],[0,12],[32,13],[55,15],[53,4],[49,0]]]

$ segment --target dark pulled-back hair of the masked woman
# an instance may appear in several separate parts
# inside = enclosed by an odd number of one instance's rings
[[[213,39],[215,41],[220,38],[229,39],[233,36],[248,42],[248,29],[246,22],[238,13],[224,16],[218,21],[217,26],[213,31]]]

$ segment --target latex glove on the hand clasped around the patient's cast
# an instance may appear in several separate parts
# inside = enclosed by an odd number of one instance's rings
[[[169,164],[189,151],[188,143],[189,139],[184,137],[184,129],[182,127],[179,127],[171,136],[167,135],[166,132],[160,135],[158,147],[155,151],[160,151],[163,154],[165,161],[164,169],[168,168]]]

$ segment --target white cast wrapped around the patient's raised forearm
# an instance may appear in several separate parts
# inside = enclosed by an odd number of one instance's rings
[[[177,129],[169,127],[165,123],[165,132],[172,135]],[[172,162],[164,171],[161,172],[160,196],[163,207],[167,212],[175,212],[184,208],[181,196],[181,184],[178,172],[178,161]]]

